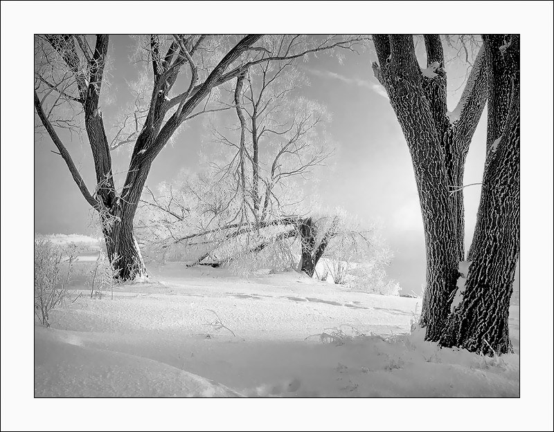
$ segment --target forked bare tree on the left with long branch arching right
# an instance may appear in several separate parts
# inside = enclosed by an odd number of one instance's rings
[[[151,35],[147,39],[143,53],[152,68],[152,93],[148,109],[141,112],[141,118],[139,115],[126,118],[134,122],[135,129],[134,134],[127,134],[123,141],[134,143],[134,147],[120,191],[114,184],[110,151],[118,147],[122,137],[116,133],[111,142],[108,140],[99,103],[102,84],[105,83],[109,36],[39,35],[35,39],[35,110],[82,195],[98,211],[109,259],[114,262],[114,257],[118,257],[114,264],[124,280],[147,275],[134,236],[133,221],[152,162],[181,124],[200,113],[212,111],[207,108],[211,92],[217,86],[244,75],[252,66],[286,61],[332,48],[352,49],[364,38],[330,36],[314,39],[285,35],[281,37],[282,44],[275,55],[264,48],[262,35],[237,39],[209,35]],[[184,73],[185,68],[188,72]],[[184,91],[175,91],[180,75],[186,76],[188,84]],[[62,108],[75,113],[69,123],[64,123],[55,114]],[[138,108],[137,111],[140,112]],[[64,124],[71,128],[79,126],[77,119],[84,120],[93,155],[96,171],[93,193],[84,184],[56,131]]]

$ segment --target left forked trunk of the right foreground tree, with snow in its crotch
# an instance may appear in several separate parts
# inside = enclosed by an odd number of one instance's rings
[[[384,86],[402,127],[418,186],[427,256],[427,287],[421,325],[437,341],[456,292],[463,261],[463,164],[485,106],[484,55],[479,53],[461,100],[447,112],[446,73],[438,35],[425,35],[427,71],[415,57],[413,36],[373,35]]]

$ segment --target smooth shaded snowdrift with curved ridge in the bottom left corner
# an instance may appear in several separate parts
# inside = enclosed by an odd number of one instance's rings
[[[225,386],[160,361],[83,346],[75,333],[35,327],[35,397],[68,395],[240,397]]]

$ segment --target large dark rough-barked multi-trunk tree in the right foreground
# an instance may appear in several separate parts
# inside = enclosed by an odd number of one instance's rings
[[[412,35],[373,35],[379,60],[373,64],[373,70],[386,89],[404,132],[420,196],[427,251],[427,288],[421,324],[427,328],[428,340],[483,353],[492,353],[492,350],[506,353],[510,349],[509,341],[506,343],[508,293],[511,294],[519,254],[519,241],[516,240],[519,232],[519,105],[513,106],[517,115],[514,113],[510,117],[513,122],[509,128],[504,123],[510,122],[501,120],[508,109],[503,114],[495,114],[494,106],[506,104],[506,100],[510,104],[515,104],[515,100],[519,103],[519,78],[515,79],[515,75],[519,75],[519,60],[517,66],[495,66],[495,62],[504,65],[514,63],[512,57],[519,59],[519,39],[508,37],[514,43],[506,43],[501,49],[491,45],[492,38],[483,37],[485,44],[476,56],[461,100],[452,113],[448,112],[446,104],[442,41],[439,35],[425,35],[424,39],[427,68],[422,69],[415,57]],[[494,72],[497,67],[502,69],[500,73]],[[491,81],[496,75],[508,83],[503,87],[508,96],[497,95],[499,90]],[[500,102],[495,102],[495,97],[499,97]],[[492,104],[488,142],[493,140],[491,133],[497,134],[502,137],[505,150],[492,156],[492,141],[488,145],[490,162],[485,167],[480,222],[474,236],[479,247],[473,248],[479,249],[480,262],[475,260],[470,267],[468,277],[472,282],[466,284],[464,301],[451,315],[459,276],[458,263],[465,261],[465,156],[488,98]],[[491,124],[497,126],[491,129]],[[486,182],[489,185],[485,186]],[[491,214],[485,216],[485,207],[492,211],[494,220],[490,219]],[[486,218],[489,219],[485,227],[483,220]],[[510,220],[509,227],[502,225],[502,218]],[[496,236],[497,233],[502,233],[506,243]],[[496,270],[492,270],[492,262],[498,264]],[[503,275],[499,276],[498,272]],[[491,303],[490,299],[501,301]],[[470,317],[476,321],[470,323]]]

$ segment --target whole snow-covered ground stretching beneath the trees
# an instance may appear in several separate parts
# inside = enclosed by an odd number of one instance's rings
[[[35,396],[519,396],[515,354],[485,358],[409,332],[421,299],[353,292],[296,272],[241,279],[150,268],[35,326]]]

